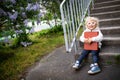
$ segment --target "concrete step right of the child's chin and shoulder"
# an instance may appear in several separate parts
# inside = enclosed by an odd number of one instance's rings
[[[104,35],[114,34],[114,35],[120,35],[120,26],[116,27],[102,27],[100,28],[102,33]]]

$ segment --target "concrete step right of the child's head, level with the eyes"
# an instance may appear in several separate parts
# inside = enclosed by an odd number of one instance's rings
[[[100,20],[100,27],[120,26],[120,18],[102,19]]]

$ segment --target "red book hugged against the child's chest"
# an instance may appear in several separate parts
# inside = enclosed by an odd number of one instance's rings
[[[98,32],[85,32],[84,37],[85,38],[92,38],[96,37],[98,35]],[[84,43],[84,49],[86,50],[98,50],[98,42],[92,42],[90,44]]]

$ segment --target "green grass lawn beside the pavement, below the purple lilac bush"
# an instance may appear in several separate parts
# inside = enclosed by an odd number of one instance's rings
[[[30,38],[34,43],[28,47],[0,49],[0,80],[19,80],[19,75],[28,67],[64,44],[61,33],[43,37],[30,35]]]

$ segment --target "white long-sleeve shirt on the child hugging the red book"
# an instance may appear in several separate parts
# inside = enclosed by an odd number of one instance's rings
[[[83,42],[83,43],[84,43],[84,40],[85,40],[85,37],[84,37],[85,32],[91,32],[91,30],[86,28],[83,31],[82,35],[80,36],[80,41]],[[98,27],[96,27],[94,30],[92,30],[92,32],[98,32],[98,36],[92,37],[92,41],[98,42],[99,43],[98,47],[101,48],[101,45],[102,45],[101,41],[103,40],[102,32],[100,31],[100,29]]]

